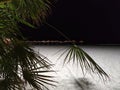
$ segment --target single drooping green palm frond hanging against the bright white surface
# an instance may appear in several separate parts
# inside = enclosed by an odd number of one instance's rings
[[[106,80],[109,78],[107,73],[79,46],[73,45],[67,50],[67,54],[64,59],[64,64],[69,62],[77,62],[80,65],[82,72],[84,74],[85,70],[90,73],[96,73],[100,78]]]

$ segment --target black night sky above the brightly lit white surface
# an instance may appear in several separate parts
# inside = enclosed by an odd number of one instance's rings
[[[58,0],[47,23],[67,37],[92,44],[120,44],[120,0]],[[46,24],[26,30],[30,40],[65,40]]]

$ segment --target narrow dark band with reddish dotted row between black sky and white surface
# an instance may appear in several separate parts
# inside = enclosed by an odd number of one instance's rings
[[[26,41],[31,45],[92,45],[92,46],[120,46],[120,44],[112,43],[86,43],[84,41],[75,41],[75,40],[41,40],[41,41]]]

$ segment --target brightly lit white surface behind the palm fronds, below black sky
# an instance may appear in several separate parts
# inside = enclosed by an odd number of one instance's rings
[[[80,67],[73,64],[63,66],[63,57],[59,58],[67,46],[35,46],[34,50],[48,57],[57,70],[54,75],[59,82],[50,90],[120,90],[120,47],[118,46],[81,46],[110,76],[110,81],[103,83],[98,76],[85,76]],[[77,80],[82,86],[80,87]]]

